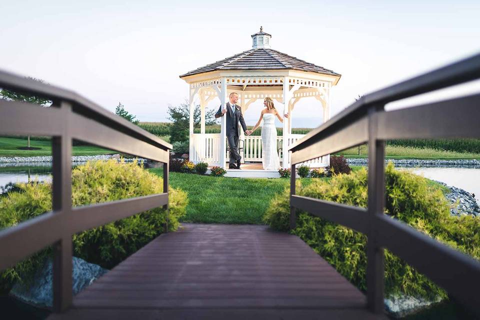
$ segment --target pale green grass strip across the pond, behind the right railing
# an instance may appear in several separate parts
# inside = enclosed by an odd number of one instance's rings
[[[367,145],[352,147],[335,154],[343,154],[349,158],[364,158],[368,155]],[[414,148],[407,146],[386,145],[385,158],[387,159],[480,159],[480,153],[463,153],[456,151],[444,151],[430,148]]]

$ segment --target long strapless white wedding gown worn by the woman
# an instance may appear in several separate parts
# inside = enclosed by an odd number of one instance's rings
[[[263,114],[261,126],[261,164],[264,170],[278,170],[280,159],[276,150],[276,127],[273,113]]]

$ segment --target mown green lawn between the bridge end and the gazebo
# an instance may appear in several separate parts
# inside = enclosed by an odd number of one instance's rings
[[[150,169],[161,175],[162,169]],[[305,185],[311,179],[302,179]],[[286,178],[231,178],[170,172],[169,184],[188,194],[183,222],[262,223],[271,198],[290,183]]]

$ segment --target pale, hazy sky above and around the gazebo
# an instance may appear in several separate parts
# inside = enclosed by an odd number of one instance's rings
[[[479,53],[479,16],[478,0],[1,0],[0,69],[111,111],[121,102],[141,121],[167,121],[167,106],[188,97],[178,76],[250,49],[262,25],[273,49],[341,74],[331,90],[334,115],[358,95]],[[478,91],[475,81],[391,107]],[[247,125],[261,107],[250,105]],[[293,127],[322,122],[313,98],[294,112]]]

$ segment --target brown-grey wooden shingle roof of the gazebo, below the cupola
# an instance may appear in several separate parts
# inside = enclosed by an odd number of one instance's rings
[[[210,72],[215,70],[264,70],[264,69],[293,69],[312,71],[329,75],[340,75],[322,66],[306,62],[294,56],[270,48],[250,49],[229,56],[214,63],[191,70],[181,77]]]

